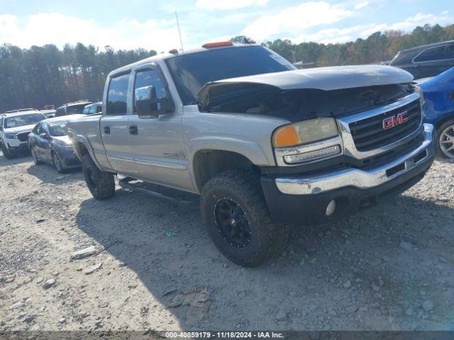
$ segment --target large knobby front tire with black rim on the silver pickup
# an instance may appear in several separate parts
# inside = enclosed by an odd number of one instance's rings
[[[210,179],[201,194],[201,215],[219,251],[241,266],[259,266],[287,244],[287,226],[271,219],[253,171],[234,169]]]

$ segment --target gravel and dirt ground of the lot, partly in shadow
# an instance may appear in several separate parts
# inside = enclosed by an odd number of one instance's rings
[[[0,329],[453,330],[453,169],[437,161],[403,196],[295,227],[279,259],[245,269],[197,210],[123,189],[98,202],[79,171],[0,154]],[[197,307],[169,307],[194,288]]]

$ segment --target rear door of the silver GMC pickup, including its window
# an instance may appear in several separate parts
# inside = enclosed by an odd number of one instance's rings
[[[106,157],[112,169],[126,175],[137,174],[129,145],[128,87],[131,72],[115,74],[109,79],[106,93],[106,112],[99,127]]]

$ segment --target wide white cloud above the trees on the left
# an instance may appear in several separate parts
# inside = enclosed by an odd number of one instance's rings
[[[167,21],[137,21],[126,19],[99,26],[94,19],[82,19],[60,13],[38,13],[26,18],[21,25],[11,14],[0,15],[0,42],[21,47],[31,45],[82,42],[98,47],[110,45],[116,49],[170,50],[179,46],[175,23]]]

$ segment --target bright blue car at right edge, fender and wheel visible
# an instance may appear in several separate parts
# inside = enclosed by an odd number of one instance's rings
[[[426,101],[425,123],[437,130],[437,152],[454,159],[454,67],[421,82]]]

